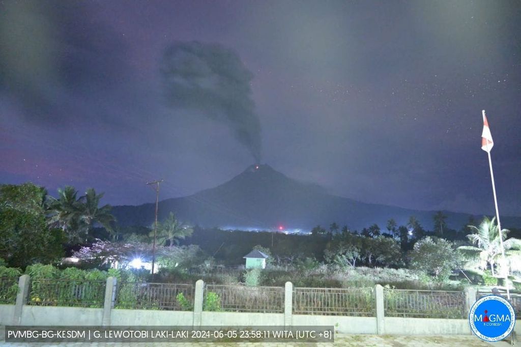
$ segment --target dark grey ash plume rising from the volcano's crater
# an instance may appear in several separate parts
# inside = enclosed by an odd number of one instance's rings
[[[170,106],[199,110],[225,123],[260,161],[261,124],[250,89],[253,75],[237,54],[218,44],[177,42],[166,49],[160,72]]]

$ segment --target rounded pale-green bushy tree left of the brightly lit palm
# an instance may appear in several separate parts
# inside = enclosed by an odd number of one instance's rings
[[[442,281],[449,279],[459,262],[452,242],[444,239],[434,241],[430,237],[417,241],[410,257],[411,268],[431,273]]]

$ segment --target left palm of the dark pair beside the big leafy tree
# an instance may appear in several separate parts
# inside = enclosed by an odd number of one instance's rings
[[[77,195],[78,191],[67,185],[64,189],[58,188],[57,199],[48,196],[46,201],[47,211],[50,213],[47,224],[61,229],[69,240],[77,236],[81,216],[81,202],[76,198]]]

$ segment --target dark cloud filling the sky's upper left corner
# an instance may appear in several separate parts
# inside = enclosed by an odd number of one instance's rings
[[[93,22],[93,14],[81,2],[3,4],[0,93],[15,101],[28,120],[82,117],[78,102],[86,102],[86,94],[102,93],[121,81],[128,67],[126,46],[115,32]]]

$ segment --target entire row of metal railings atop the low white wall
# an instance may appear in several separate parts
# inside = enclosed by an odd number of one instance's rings
[[[111,293],[105,293],[106,281],[70,279],[0,278],[0,304],[15,304],[18,281],[23,292],[22,301],[38,306],[103,307]],[[23,281],[22,281],[23,280]],[[111,282],[108,282],[110,287]],[[291,283],[289,283],[291,284]],[[27,287],[26,287],[27,286]],[[200,284],[197,284],[200,286]],[[109,287],[109,288],[110,288]],[[196,311],[193,284],[117,282],[111,307],[130,309],[166,309]],[[490,292],[432,291],[371,288],[294,288],[247,287],[241,285],[201,285],[204,311],[285,313],[284,299],[291,298],[289,311],[295,315],[377,316],[377,301],[383,299],[383,316],[418,318],[467,317],[467,309],[474,298]],[[474,294],[476,293],[476,295]],[[383,298],[380,296],[383,294]],[[501,294],[505,296],[505,294]],[[107,301],[105,301],[107,299]],[[521,316],[521,295],[511,293],[511,303]],[[198,305],[201,303],[199,302]],[[290,304],[288,302],[288,304]],[[291,307],[289,307],[291,306]],[[201,309],[199,308],[199,309]],[[286,313],[287,313],[286,312]],[[380,311],[378,311],[380,312]]]

